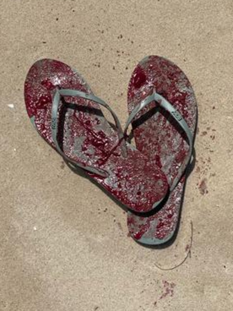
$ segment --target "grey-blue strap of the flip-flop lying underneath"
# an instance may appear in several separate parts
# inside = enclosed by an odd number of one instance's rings
[[[136,116],[136,114],[139,113],[139,111],[141,109],[143,109],[145,106],[147,106],[148,104],[150,104],[152,101],[156,101],[158,102],[158,104],[163,107],[165,110],[167,110],[172,118],[180,125],[180,127],[184,130],[187,138],[188,138],[188,142],[189,142],[189,152],[187,154],[187,156],[185,157],[184,162],[181,164],[180,168],[178,169],[178,172],[176,174],[176,177],[173,179],[173,182],[170,186],[170,191],[172,191],[177,183],[179,182],[180,178],[182,177],[187,165],[190,162],[190,158],[192,155],[192,150],[193,150],[193,134],[190,131],[190,128],[188,126],[188,124],[185,122],[185,119],[182,117],[182,115],[172,106],[172,104],[170,104],[162,95],[153,92],[152,95],[149,95],[148,97],[146,97],[144,100],[142,100],[131,112],[128,120],[126,121],[126,126],[124,129],[124,135],[126,134],[127,128],[129,127],[130,123],[132,122],[132,120],[134,119],[134,117]]]

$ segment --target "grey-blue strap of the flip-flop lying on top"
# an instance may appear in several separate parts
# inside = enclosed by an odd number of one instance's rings
[[[119,141],[121,141],[121,152],[123,156],[127,156],[127,151],[126,151],[126,142],[124,139],[124,135],[123,135],[123,131],[121,128],[121,124],[119,119],[117,118],[117,115],[114,113],[114,111],[108,106],[108,104],[106,104],[102,99],[98,98],[95,95],[92,94],[88,94],[88,93],[84,93],[81,91],[77,91],[77,90],[70,90],[70,89],[62,89],[56,90],[56,93],[53,97],[53,104],[52,104],[52,118],[51,118],[51,131],[52,131],[52,138],[53,138],[53,142],[55,144],[55,147],[57,149],[57,151],[62,155],[62,157],[64,158],[64,160],[66,160],[68,163],[70,163],[71,165],[73,165],[74,167],[79,167],[82,169],[85,169],[91,173],[95,173],[98,174],[100,176],[103,177],[107,177],[108,173],[103,170],[103,169],[96,169],[92,166],[88,166],[88,165],[82,165],[80,163],[77,163],[73,160],[71,160],[70,158],[68,158],[64,152],[62,151],[62,149],[59,146],[59,143],[57,141],[57,113],[58,113],[58,107],[59,107],[59,103],[60,103],[60,99],[61,96],[74,96],[74,97],[81,97],[87,100],[92,100],[102,106],[104,106],[105,108],[107,108],[115,121],[116,124],[116,128],[117,128],[117,133],[118,133],[118,137],[119,137]]]

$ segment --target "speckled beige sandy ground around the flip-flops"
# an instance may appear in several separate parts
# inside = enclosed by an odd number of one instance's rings
[[[233,2],[0,2],[0,310],[233,309]],[[36,133],[23,86],[39,58],[75,67],[124,124],[131,72],[165,56],[198,101],[196,167],[176,241],[149,249],[126,214]],[[193,223],[191,257],[187,255]]]

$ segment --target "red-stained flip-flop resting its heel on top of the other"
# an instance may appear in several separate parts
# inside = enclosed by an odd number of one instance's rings
[[[125,141],[116,114],[71,67],[51,59],[34,63],[25,104],[36,130],[66,163],[83,169],[130,210],[150,211],[166,196],[166,175]],[[115,129],[100,105],[111,112]]]

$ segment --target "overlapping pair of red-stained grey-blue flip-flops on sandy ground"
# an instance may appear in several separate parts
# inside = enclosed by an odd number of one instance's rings
[[[135,240],[156,245],[171,239],[197,121],[194,92],[179,67],[158,56],[137,65],[124,129],[80,74],[56,60],[42,59],[30,68],[25,104],[36,130],[67,165],[84,170],[128,209]],[[101,107],[110,111],[114,125]],[[128,142],[130,123],[136,148]]]

